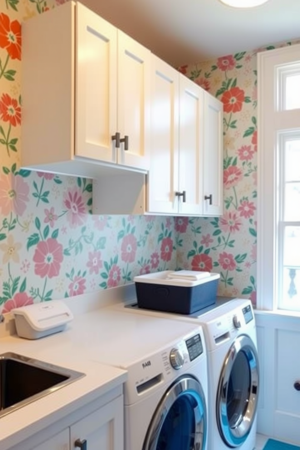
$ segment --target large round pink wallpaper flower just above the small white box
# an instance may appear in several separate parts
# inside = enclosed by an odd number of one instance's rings
[[[63,246],[56,239],[49,238],[40,241],[36,246],[33,261],[34,273],[41,278],[53,278],[59,274],[60,264],[63,261]]]

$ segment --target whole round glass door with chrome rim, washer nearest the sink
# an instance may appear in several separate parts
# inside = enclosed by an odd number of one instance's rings
[[[143,450],[204,450],[206,401],[199,381],[183,375],[165,392],[152,417]]]

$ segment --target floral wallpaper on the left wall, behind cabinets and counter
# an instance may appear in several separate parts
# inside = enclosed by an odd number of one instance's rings
[[[94,216],[92,180],[20,169],[23,20],[64,0],[0,3],[0,311],[175,269],[173,217]],[[47,14],[47,13],[45,13]]]

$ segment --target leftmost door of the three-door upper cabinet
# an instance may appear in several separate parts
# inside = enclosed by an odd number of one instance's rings
[[[151,56],[151,159],[148,212],[177,213],[179,72]]]

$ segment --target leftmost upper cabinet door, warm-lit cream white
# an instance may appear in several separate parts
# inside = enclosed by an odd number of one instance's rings
[[[116,162],[117,29],[76,3],[77,156]]]

